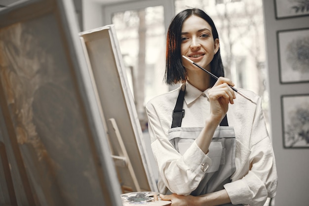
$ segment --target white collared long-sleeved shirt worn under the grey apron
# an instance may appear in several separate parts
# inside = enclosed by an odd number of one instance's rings
[[[159,192],[164,194],[168,188],[173,193],[189,195],[204,177],[201,165],[211,165],[211,159],[195,142],[182,156],[168,140],[179,90],[180,87],[154,97],[147,103],[146,111],[159,172]],[[260,97],[251,91],[239,90],[257,104],[236,94],[234,104],[229,105],[228,123],[234,127],[236,138],[236,171],[231,176],[232,182],[225,184],[224,188],[234,205],[263,206],[267,197],[275,196],[277,173],[274,154]],[[210,114],[207,90],[202,92],[187,82],[183,109],[182,127],[203,127]]]

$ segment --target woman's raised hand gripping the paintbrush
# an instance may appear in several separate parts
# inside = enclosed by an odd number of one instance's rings
[[[229,103],[233,104],[235,97],[234,91],[231,86],[234,83],[224,77],[220,77],[215,85],[208,90],[210,102],[210,118],[212,121],[222,121],[229,109]]]

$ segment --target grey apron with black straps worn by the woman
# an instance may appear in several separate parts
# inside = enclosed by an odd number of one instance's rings
[[[202,127],[181,127],[182,118],[185,116],[184,96],[185,87],[182,87],[168,134],[169,141],[181,155],[186,152],[202,130]],[[234,128],[228,125],[227,116],[225,116],[220,126],[217,127],[209,146],[207,155],[212,160],[212,165],[206,169],[204,178],[191,195],[199,196],[223,190],[223,185],[231,182],[231,175],[235,171],[235,148]],[[232,206],[232,203],[224,206]]]

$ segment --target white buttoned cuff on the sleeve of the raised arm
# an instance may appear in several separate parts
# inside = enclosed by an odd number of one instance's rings
[[[211,166],[211,159],[197,146],[195,141],[183,155],[183,160],[194,173],[204,174]]]

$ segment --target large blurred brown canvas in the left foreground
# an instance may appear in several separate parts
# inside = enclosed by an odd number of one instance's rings
[[[71,0],[0,10],[0,205],[122,206],[76,18]]]

